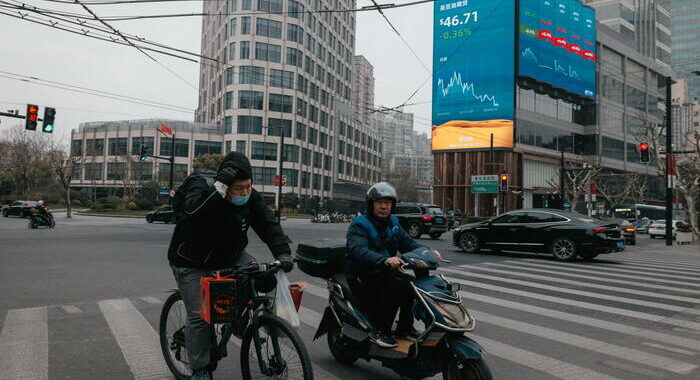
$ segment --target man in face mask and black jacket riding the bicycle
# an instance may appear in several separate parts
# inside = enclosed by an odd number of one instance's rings
[[[176,211],[182,216],[170,240],[168,261],[187,309],[188,364],[192,380],[210,380],[211,330],[200,317],[200,278],[255,262],[245,252],[249,227],[289,272],[294,265],[290,240],[252,188],[250,161],[238,152],[224,158],[213,184],[203,178],[189,184]]]

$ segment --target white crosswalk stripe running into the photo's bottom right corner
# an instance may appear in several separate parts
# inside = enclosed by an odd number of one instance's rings
[[[520,322],[509,318],[499,317],[483,311],[472,309],[476,319],[482,323],[489,323],[497,327],[519,331],[540,338],[553,340],[559,343],[576,346],[599,354],[647,365],[657,369],[686,375],[692,372],[696,365],[663,356],[650,354],[644,351],[618,346],[596,339],[586,338],[576,334],[550,329],[530,323]]]

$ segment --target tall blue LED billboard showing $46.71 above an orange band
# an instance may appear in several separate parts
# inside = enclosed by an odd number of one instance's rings
[[[515,0],[438,0],[434,151],[513,147]]]

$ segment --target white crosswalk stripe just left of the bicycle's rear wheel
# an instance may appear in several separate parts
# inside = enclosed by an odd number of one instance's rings
[[[172,379],[158,334],[126,298],[98,302],[109,329],[136,380]]]

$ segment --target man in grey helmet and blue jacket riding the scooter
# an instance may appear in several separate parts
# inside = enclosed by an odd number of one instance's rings
[[[353,219],[347,232],[345,273],[353,294],[377,329],[374,342],[395,347],[391,334],[396,311],[400,309],[397,336],[415,336],[413,290],[395,276],[405,264],[397,254],[423,247],[399,225],[391,213],[396,208],[396,190],[387,182],[374,184],[367,191],[367,212]]]

